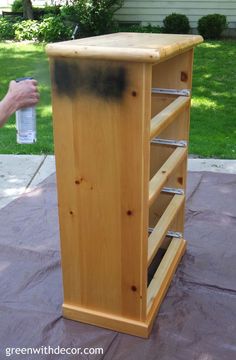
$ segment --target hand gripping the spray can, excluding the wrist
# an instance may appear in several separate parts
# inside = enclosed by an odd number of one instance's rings
[[[14,104],[15,111],[24,107],[30,107],[39,101],[39,93],[36,80],[11,81],[6,98]],[[14,111],[14,112],[15,112]]]

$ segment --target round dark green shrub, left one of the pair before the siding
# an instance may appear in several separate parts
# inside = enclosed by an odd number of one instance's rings
[[[190,30],[189,20],[184,14],[171,14],[163,20],[164,32],[167,34],[188,34]]]

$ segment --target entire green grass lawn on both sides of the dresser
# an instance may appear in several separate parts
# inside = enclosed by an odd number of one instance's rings
[[[0,130],[0,153],[53,153],[48,61],[42,45],[0,43],[0,98],[11,79],[33,76],[39,82],[38,141],[16,144],[15,117]],[[205,42],[195,49],[190,153],[236,158],[236,41]]]

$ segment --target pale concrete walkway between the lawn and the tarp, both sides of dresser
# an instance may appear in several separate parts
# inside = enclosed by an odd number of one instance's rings
[[[189,159],[188,170],[236,174],[236,160]],[[0,155],[0,209],[54,172],[53,155]]]

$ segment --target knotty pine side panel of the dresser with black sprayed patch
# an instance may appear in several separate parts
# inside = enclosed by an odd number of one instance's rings
[[[145,69],[76,59],[52,66],[65,302],[134,319],[146,295]]]

